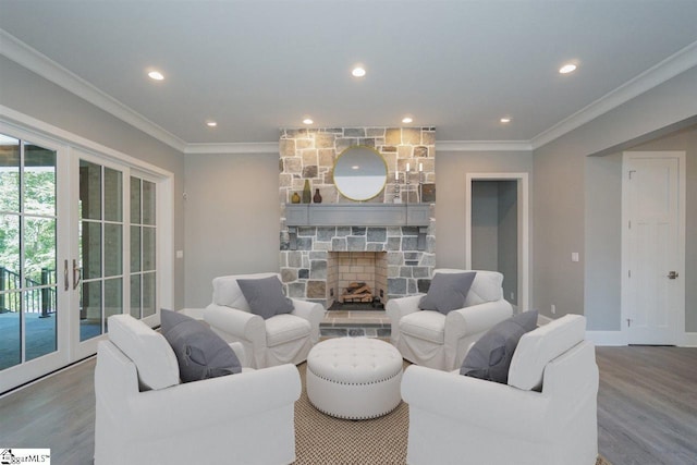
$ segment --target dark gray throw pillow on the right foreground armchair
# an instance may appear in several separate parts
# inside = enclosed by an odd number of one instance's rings
[[[501,321],[472,346],[460,375],[501,383],[509,382],[509,368],[521,336],[537,327],[537,310]]]

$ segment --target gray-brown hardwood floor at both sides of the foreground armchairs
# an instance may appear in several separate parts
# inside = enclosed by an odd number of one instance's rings
[[[598,347],[598,442],[613,465],[697,464],[697,348]],[[0,448],[93,462],[95,359],[0,397]]]

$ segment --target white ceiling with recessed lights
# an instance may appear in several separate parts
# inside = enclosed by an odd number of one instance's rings
[[[185,151],[407,113],[539,146],[697,65],[696,24],[696,0],[0,0],[0,52]]]

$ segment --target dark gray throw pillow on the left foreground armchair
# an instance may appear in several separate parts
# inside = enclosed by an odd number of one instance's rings
[[[172,310],[160,311],[161,330],[179,363],[182,382],[242,371],[234,351],[206,325]]]

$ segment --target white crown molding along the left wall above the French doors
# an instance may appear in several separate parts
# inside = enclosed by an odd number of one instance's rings
[[[0,29],[0,53],[170,147],[180,151],[184,151],[186,148],[186,143],[181,138],[105,94],[3,29]]]

